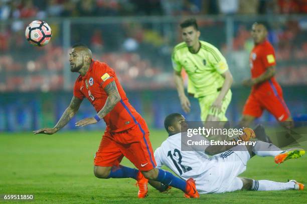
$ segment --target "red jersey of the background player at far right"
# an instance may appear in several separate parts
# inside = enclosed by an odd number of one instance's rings
[[[251,77],[256,78],[260,76],[269,66],[276,65],[273,46],[267,40],[255,45],[250,53],[249,62],[251,67]],[[260,84],[253,85],[252,92],[268,91],[271,90],[273,86],[277,90],[281,89],[274,76]]]

